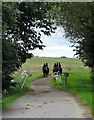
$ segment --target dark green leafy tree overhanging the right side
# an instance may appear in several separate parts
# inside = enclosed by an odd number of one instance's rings
[[[65,37],[75,46],[76,55],[94,74],[94,2],[60,3],[57,8],[57,24],[63,26]]]

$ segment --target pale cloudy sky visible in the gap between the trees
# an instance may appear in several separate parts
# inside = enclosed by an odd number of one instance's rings
[[[73,58],[75,52],[73,51],[73,48],[69,47],[72,44],[68,42],[63,35],[64,31],[60,27],[51,36],[42,35],[41,40],[46,47],[43,50],[35,49],[32,53],[34,56],[41,57],[66,56],[68,58]]]

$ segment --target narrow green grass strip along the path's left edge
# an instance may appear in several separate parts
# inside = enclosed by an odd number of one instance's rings
[[[9,106],[14,100],[16,100],[18,97],[24,95],[26,92],[31,91],[30,82],[33,80],[36,80],[37,78],[42,77],[41,73],[35,73],[32,76],[30,76],[25,85],[24,88],[21,90],[21,85],[18,84],[15,88],[10,88],[9,92],[7,94],[3,94],[3,100],[2,100],[2,109]],[[18,81],[19,76],[14,77],[14,81]]]

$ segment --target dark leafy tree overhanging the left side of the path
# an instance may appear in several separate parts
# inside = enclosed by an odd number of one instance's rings
[[[49,17],[50,8],[48,3],[2,4],[3,89],[10,88],[12,73],[20,68],[27,58],[33,57],[30,50],[43,49],[41,32],[45,35],[54,32],[55,25]]]

